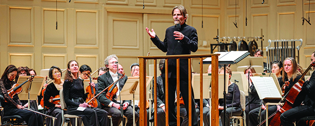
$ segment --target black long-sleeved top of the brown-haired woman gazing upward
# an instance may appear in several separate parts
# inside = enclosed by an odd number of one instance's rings
[[[78,107],[87,98],[87,95],[84,94],[83,80],[73,79],[72,82],[65,80],[63,83],[63,95],[67,106]]]

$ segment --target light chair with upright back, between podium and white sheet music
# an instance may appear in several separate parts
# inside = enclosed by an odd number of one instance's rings
[[[238,124],[234,124],[235,119],[238,120],[238,122],[240,122],[240,126],[246,126],[246,123],[244,123],[244,120],[246,119],[246,114],[245,114],[245,107],[246,107],[245,99],[246,98],[245,98],[245,93],[243,91],[240,91],[240,94],[241,94],[241,100],[240,100],[241,101],[241,109],[243,111],[243,114],[241,114],[241,115],[233,115],[231,117],[232,122],[233,122],[233,126],[238,125]],[[242,121],[240,121],[240,119]]]

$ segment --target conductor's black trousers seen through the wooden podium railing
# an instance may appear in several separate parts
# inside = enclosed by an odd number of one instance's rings
[[[168,107],[170,108],[168,110],[168,124],[171,125],[176,125],[176,112],[174,109],[175,108],[175,90],[176,90],[176,83],[177,80],[173,78],[168,78]],[[163,87],[164,87],[164,92],[165,92],[165,78],[163,78]],[[183,96],[184,104],[187,106],[186,111],[188,112],[188,105],[190,104],[191,106],[191,123],[192,126],[197,126],[197,114],[195,110],[195,96],[194,92],[192,90],[192,86],[189,86],[191,88],[191,96],[188,95],[188,79],[180,79],[180,91]],[[188,103],[188,97],[191,97],[191,103]],[[187,115],[189,115],[187,113]],[[188,119],[190,118],[189,116],[187,117]]]

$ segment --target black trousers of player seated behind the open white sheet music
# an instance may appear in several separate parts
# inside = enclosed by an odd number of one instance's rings
[[[259,108],[256,108],[254,110],[251,110],[249,112],[249,126],[258,126],[259,125],[259,119],[258,119],[258,114],[259,114]],[[277,106],[270,106],[268,107],[268,116],[272,115],[277,111]],[[266,110],[261,110],[260,112],[260,117],[261,117],[261,122],[263,122],[266,119]],[[270,121],[272,118],[268,119],[268,124],[270,124]],[[265,123],[262,124],[262,126],[265,126]]]

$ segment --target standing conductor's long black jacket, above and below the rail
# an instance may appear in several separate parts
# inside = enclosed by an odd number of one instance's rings
[[[185,36],[180,42],[176,40],[174,31],[177,31],[176,26],[168,27],[165,32],[165,39],[162,42],[156,35],[151,38],[153,44],[166,55],[187,55],[196,52],[198,49],[198,35],[194,27],[188,26],[186,23],[181,25],[180,32]],[[191,73],[190,73],[191,74]],[[162,69],[162,77],[165,78],[165,67]],[[176,78],[176,59],[168,60],[168,78]],[[188,79],[188,59],[180,59],[180,78]]]

